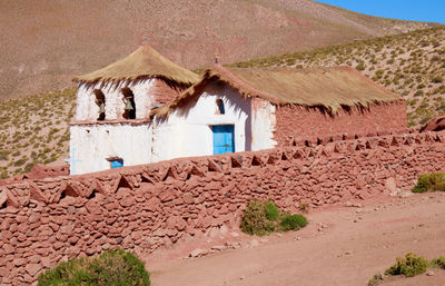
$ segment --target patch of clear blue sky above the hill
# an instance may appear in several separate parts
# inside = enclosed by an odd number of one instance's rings
[[[445,0],[315,0],[355,12],[402,20],[445,23]]]

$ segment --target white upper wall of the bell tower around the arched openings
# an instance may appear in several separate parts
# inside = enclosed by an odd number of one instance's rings
[[[135,81],[128,85],[135,95],[136,118],[148,118],[151,108],[155,106],[155,97],[150,95],[150,88],[157,79],[146,79]],[[106,119],[122,119],[123,114],[123,96],[120,91],[126,87],[126,82],[85,85],[80,83],[77,93],[77,121],[96,121],[99,117],[99,107],[96,105],[96,95],[92,92],[95,89],[100,89],[106,98]]]

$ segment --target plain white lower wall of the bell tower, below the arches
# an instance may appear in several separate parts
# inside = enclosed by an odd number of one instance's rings
[[[70,154],[80,162],[70,164],[70,174],[80,175],[110,168],[107,158],[120,157],[123,166],[151,161],[151,127],[147,125],[75,125],[70,127]]]

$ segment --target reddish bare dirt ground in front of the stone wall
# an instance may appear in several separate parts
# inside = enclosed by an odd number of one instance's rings
[[[444,193],[360,204],[313,210],[299,231],[259,238],[228,229],[160,250],[145,259],[152,285],[366,285],[407,253],[445,255]],[[237,249],[220,250],[224,243]],[[185,258],[215,245],[215,254]],[[445,270],[378,285],[445,285]]]

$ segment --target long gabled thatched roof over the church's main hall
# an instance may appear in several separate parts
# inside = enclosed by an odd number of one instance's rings
[[[372,103],[403,100],[349,67],[323,69],[224,68],[206,70],[200,81],[185,90],[170,103],[154,110],[167,117],[177,107],[199,96],[211,81],[222,81],[244,98],[263,98],[274,105],[320,107],[335,115],[343,107],[368,107]]]

